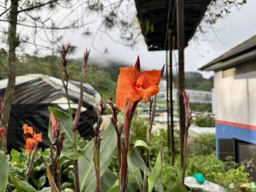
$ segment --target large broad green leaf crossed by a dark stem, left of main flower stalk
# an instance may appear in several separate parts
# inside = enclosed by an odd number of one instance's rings
[[[96,173],[93,163],[94,140],[84,148],[84,155],[79,156],[79,181],[81,192],[96,190]],[[112,125],[102,131],[102,143],[100,149],[100,170],[101,177],[107,171],[113,157],[116,146],[116,134]],[[86,158],[85,158],[86,157]]]

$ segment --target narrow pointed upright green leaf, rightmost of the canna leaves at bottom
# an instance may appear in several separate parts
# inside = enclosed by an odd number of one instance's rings
[[[160,177],[162,171],[162,148],[160,149],[159,154],[157,155],[154,167],[148,176],[148,192],[151,192],[154,188],[154,184],[157,179]]]

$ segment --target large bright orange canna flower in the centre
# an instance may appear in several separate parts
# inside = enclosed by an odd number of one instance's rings
[[[137,67],[120,68],[116,90],[116,106],[122,110],[125,102],[137,102],[142,99],[148,102],[150,96],[159,92],[161,71],[151,70],[140,72]]]

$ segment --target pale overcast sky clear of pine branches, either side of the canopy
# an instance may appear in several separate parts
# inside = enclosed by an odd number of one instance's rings
[[[240,10],[231,9],[230,15],[218,20],[218,23],[212,26],[213,29],[208,29],[205,34],[197,35],[200,37],[197,41],[190,40],[189,46],[185,49],[185,70],[196,71],[218,55],[224,54],[225,51],[255,35],[255,10],[256,1],[248,0]],[[113,32],[112,35],[114,36],[115,33]],[[91,47],[91,38],[73,36],[69,40],[79,48],[74,56],[80,57],[83,55],[85,47]],[[107,55],[102,55],[95,49],[91,49],[91,56],[98,60],[104,61],[107,58],[112,58],[132,65],[136,61],[137,55],[140,55],[142,66],[147,68],[160,68],[166,62],[165,51],[149,52],[143,39],[131,49],[114,43],[104,35],[99,35],[94,45],[97,49],[108,48]],[[204,73],[204,75],[209,77],[212,73]]]

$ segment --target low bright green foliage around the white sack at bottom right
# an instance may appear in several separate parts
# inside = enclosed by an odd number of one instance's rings
[[[165,191],[169,191],[174,181],[180,178],[180,164],[179,160],[176,161],[175,166],[165,165],[163,167]],[[239,185],[250,182],[244,166],[236,165],[236,169],[230,169],[230,166],[217,160],[215,154],[189,156],[186,176],[192,176],[198,172],[202,173],[207,181],[223,186],[227,192],[240,192]],[[235,184],[235,189],[229,189],[230,183]]]

